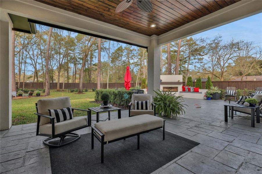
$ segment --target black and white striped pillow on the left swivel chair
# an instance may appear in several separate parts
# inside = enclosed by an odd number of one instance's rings
[[[73,112],[71,106],[63,109],[48,109],[48,110],[49,110],[49,116],[55,117],[55,123],[73,119]]]

